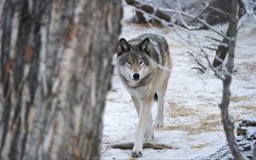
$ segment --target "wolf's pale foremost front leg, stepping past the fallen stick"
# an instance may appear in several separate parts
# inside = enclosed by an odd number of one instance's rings
[[[144,139],[144,134],[147,128],[148,118],[150,117],[150,114],[151,114],[151,106],[152,106],[152,100],[146,103],[143,103],[143,105],[140,108],[136,140],[134,142],[134,146],[131,153],[132,157],[143,156],[143,139]]]

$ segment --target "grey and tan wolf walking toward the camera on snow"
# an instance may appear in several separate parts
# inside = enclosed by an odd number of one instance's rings
[[[154,130],[151,107],[157,100],[154,128],[163,127],[164,96],[171,74],[172,60],[166,38],[143,34],[126,41],[119,40],[117,71],[137,110],[139,122],[132,157],[142,157],[143,142],[153,140]]]

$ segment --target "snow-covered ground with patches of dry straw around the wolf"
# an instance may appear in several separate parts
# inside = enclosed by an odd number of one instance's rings
[[[131,15],[131,8],[125,7],[125,19]],[[226,30],[226,25],[214,26]],[[197,67],[195,60],[187,54],[189,49],[180,43],[174,28],[154,29],[123,20],[120,37],[131,39],[150,32],[166,37],[172,54],[172,76],[165,98],[165,124],[163,129],[154,130],[154,141],[173,146],[172,150],[144,149],[139,159],[191,159],[206,157],[226,145],[220,120],[218,104],[221,101],[222,82],[207,69],[202,74],[191,69]],[[181,36],[191,37],[186,31]],[[206,36],[218,37],[212,31],[192,31],[203,45],[210,46]],[[219,37],[218,37],[219,38]],[[190,49],[195,49],[194,47]],[[210,59],[214,53],[207,50]],[[248,23],[239,31],[236,43],[235,73],[231,84],[230,115],[236,125],[245,117],[256,117],[256,24]],[[205,66],[207,61],[196,54]],[[108,93],[103,123],[102,159],[131,159],[131,150],[112,149],[109,145],[133,142],[137,130],[137,113],[131,96],[122,86],[116,71],[112,77],[112,89]],[[153,117],[156,104],[152,109]],[[154,120],[154,118],[153,118]]]

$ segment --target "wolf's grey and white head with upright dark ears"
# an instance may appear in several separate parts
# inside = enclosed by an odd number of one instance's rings
[[[151,71],[150,40],[131,40],[129,43],[121,38],[119,40],[117,65],[120,76],[130,83],[137,83]]]

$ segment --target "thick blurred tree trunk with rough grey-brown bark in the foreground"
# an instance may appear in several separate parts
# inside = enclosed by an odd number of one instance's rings
[[[121,1],[0,9],[0,159],[99,159]]]

